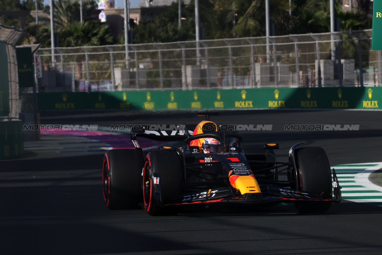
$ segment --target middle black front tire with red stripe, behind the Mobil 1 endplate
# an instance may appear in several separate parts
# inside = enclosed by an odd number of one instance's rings
[[[162,202],[168,197],[182,193],[183,170],[180,156],[171,150],[154,150],[146,156],[143,170],[144,208],[152,216],[176,215],[176,208],[163,208],[155,199],[154,173],[159,173],[160,195]]]

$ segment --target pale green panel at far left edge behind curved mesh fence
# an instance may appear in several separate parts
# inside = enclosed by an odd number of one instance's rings
[[[0,42],[0,116],[9,115],[8,53],[6,43]]]

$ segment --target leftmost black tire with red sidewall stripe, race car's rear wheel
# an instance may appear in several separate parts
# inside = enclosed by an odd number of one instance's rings
[[[144,156],[137,149],[108,150],[102,180],[104,199],[111,210],[137,209],[142,201],[141,173]]]

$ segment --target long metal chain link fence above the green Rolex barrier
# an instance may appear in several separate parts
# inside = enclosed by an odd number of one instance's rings
[[[379,86],[382,58],[371,51],[371,34],[39,49],[39,90]]]

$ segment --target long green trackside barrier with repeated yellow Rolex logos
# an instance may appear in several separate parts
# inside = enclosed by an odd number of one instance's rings
[[[380,109],[381,87],[38,93],[39,110]]]

